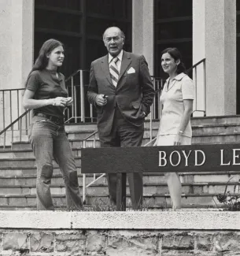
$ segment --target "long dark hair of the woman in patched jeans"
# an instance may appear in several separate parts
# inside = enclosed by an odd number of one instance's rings
[[[31,71],[28,74],[28,78],[31,75],[31,72],[35,71],[35,70],[42,70],[42,69],[46,69],[46,66],[48,65],[48,61],[49,59],[46,57],[47,54],[50,54],[55,48],[57,48],[58,46],[63,46],[63,43],[61,43],[60,41],[56,40],[56,39],[49,39],[46,40],[43,44],[41,49],[39,50],[39,56],[35,61],[35,64],[33,65],[33,68],[31,69]],[[26,81],[27,85],[28,83],[28,79]]]

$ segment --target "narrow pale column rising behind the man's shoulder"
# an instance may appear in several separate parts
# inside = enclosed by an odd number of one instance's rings
[[[153,76],[153,0],[132,0],[132,52],[144,55]]]

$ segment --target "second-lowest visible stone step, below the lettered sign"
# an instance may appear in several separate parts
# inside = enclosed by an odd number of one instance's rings
[[[229,183],[229,184],[218,184],[218,183],[196,183],[182,184],[183,194],[212,194],[218,195],[223,194],[225,187],[227,185],[227,191],[234,193],[238,191],[238,183]],[[65,186],[61,184],[52,184],[51,185],[51,194],[52,195],[65,195]],[[79,187],[80,193],[83,194],[83,187]],[[127,185],[127,194],[129,194],[129,186]],[[167,184],[144,184],[143,185],[143,195],[161,195],[168,194],[168,185]],[[36,188],[35,184],[25,184],[25,185],[0,185],[0,195],[35,195]],[[99,196],[109,195],[109,189],[106,184],[94,184],[90,187],[87,187],[87,195],[95,195],[96,198]]]

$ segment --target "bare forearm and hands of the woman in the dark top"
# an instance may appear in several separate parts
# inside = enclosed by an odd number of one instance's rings
[[[26,89],[23,99],[24,109],[39,109],[42,106],[48,105],[65,107],[68,103],[68,98],[57,97],[49,99],[34,99],[34,95],[34,91]]]

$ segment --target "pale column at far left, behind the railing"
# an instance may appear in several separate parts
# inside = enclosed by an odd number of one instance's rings
[[[23,88],[33,64],[34,0],[0,1],[0,89]],[[22,93],[0,93],[0,129],[22,113]],[[12,104],[10,104],[10,97]],[[11,110],[11,111],[10,111]],[[3,117],[4,116],[4,117]]]

